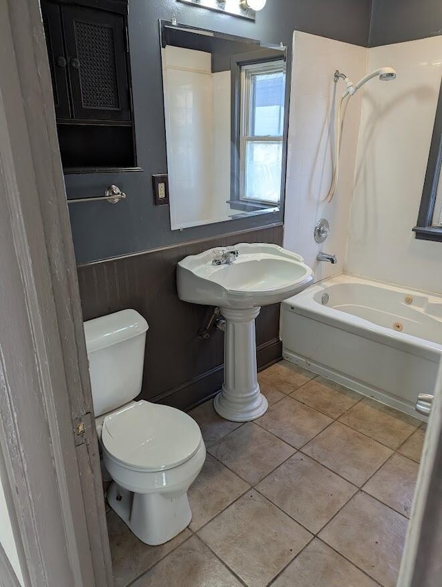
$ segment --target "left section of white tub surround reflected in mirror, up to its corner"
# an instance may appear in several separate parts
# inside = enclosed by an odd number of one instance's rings
[[[171,228],[186,228],[213,216],[211,198],[212,73],[211,54],[180,47],[163,50],[167,164]],[[195,111],[198,116],[195,116]],[[215,221],[215,220],[211,220]]]

